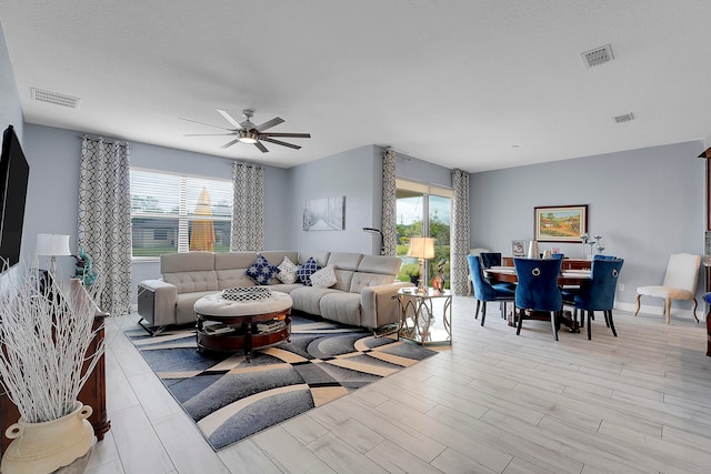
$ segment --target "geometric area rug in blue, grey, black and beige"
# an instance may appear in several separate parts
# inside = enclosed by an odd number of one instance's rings
[[[126,331],[214,451],[323,405],[437,352],[361,327],[291,316],[290,342],[197,352],[194,326]]]

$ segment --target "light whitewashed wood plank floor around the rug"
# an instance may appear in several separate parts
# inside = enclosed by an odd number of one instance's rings
[[[454,296],[454,343],[413,367],[214,453],[109,321],[111,431],[87,473],[709,473],[704,323],[614,312],[619,337],[525,321]]]

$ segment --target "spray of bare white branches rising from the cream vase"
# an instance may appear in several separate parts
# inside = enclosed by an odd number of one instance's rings
[[[57,420],[76,409],[103,354],[104,341],[87,353],[101,330],[92,326],[102,285],[84,291],[79,280],[64,288],[51,273],[46,281],[19,273],[6,272],[0,291],[0,377],[26,422]]]

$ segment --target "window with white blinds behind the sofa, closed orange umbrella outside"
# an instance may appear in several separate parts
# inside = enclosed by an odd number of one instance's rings
[[[188,251],[229,252],[232,182],[131,169],[134,258]]]

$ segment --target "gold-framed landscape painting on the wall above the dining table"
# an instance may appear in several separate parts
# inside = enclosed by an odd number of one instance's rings
[[[533,208],[533,235],[539,242],[580,242],[588,233],[588,204]]]

